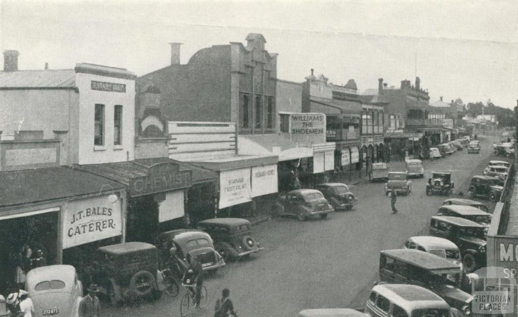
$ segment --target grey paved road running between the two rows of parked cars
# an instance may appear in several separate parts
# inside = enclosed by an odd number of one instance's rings
[[[254,227],[254,237],[265,251],[250,260],[230,263],[206,279],[209,302],[196,316],[212,316],[214,302],[224,287],[240,316],[296,316],[305,308],[361,308],[377,280],[379,252],[402,247],[405,239],[426,235],[430,216],[446,198],[426,196],[432,170],[453,174],[455,194],[467,192],[472,175],[481,174],[493,141],[481,142],[480,155],[466,150],[425,162],[426,175],[414,179],[412,193],[399,196],[399,212],[391,214],[383,183],[359,183],[351,190],[359,202],[352,211],[335,212],[326,220],[299,222],[274,219]],[[493,203],[487,203],[494,208]],[[182,295],[182,294],[181,294]],[[106,308],[105,315],[177,316],[180,297],[134,307]]]

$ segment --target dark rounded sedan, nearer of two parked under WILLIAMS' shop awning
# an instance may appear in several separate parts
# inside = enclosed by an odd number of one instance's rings
[[[305,221],[308,217],[315,215],[325,219],[327,214],[334,211],[334,208],[320,191],[299,189],[279,194],[271,211],[274,217],[293,215],[298,220]]]

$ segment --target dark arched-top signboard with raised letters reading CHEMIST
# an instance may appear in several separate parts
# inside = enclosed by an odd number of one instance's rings
[[[171,191],[192,185],[192,170],[180,171],[178,164],[161,163],[149,168],[147,176],[130,180],[132,197]]]

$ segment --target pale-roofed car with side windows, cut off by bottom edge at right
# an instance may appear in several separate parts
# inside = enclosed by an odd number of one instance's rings
[[[409,284],[380,283],[365,304],[370,317],[450,317],[453,309],[434,292]]]

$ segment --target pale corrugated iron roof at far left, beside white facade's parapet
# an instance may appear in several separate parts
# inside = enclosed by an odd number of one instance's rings
[[[76,87],[74,69],[0,71],[0,88]]]

